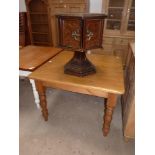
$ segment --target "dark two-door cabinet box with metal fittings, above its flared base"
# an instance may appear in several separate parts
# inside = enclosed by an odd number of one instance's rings
[[[102,47],[105,14],[58,14],[59,46],[85,51]]]

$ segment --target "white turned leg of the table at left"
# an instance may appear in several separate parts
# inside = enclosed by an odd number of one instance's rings
[[[39,100],[39,94],[38,94],[38,91],[36,89],[36,85],[35,85],[35,81],[30,79],[30,83],[32,84],[32,90],[33,90],[33,95],[34,95],[34,100],[35,100],[35,103],[37,105],[37,108],[40,109],[40,100]]]

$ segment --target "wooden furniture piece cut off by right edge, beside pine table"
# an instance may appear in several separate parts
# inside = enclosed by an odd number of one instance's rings
[[[122,96],[123,132],[125,139],[135,136],[135,56],[134,43],[129,44],[124,71],[125,94]]]

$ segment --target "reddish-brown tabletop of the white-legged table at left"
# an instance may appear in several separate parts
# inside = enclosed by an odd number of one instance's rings
[[[29,45],[19,50],[19,68],[33,71],[62,51],[61,48]]]

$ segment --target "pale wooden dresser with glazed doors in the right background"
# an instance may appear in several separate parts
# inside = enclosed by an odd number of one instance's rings
[[[98,54],[120,56],[125,65],[128,43],[135,38],[135,0],[102,0],[102,12],[107,14],[103,34],[103,50]]]

